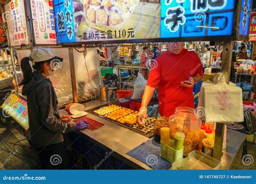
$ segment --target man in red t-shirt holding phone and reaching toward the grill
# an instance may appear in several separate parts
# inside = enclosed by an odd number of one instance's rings
[[[166,43],[168,51],[161,54],[151,68],[142,98],[137,122],[144,125],[154,90],[158,88],[159,114],[169,117],[177,107],[194,108],[193,86],[202,79],[203,66],[194,51],[184,49],[183,42]]]

